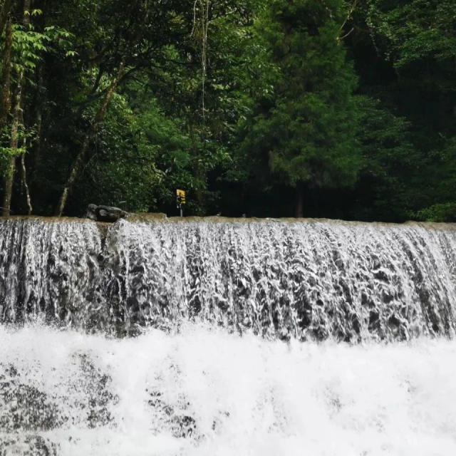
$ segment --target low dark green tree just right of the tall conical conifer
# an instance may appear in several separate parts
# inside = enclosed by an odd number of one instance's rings
[[[356,219],[398,222],[423,203],[425,182],[418,167],[429,169],[413,144],[410,123],[383,107],[379,100],[358,96],[363,167],[354,189]]]

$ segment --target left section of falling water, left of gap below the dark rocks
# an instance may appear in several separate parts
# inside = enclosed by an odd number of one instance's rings
[[[87,325],[101,283],[100,252],[94,223],[0,219],[1,320]]]

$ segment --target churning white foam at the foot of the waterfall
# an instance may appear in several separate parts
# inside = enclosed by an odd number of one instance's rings
[[[454,341],[286,344],[187,323],[123,340],[0,326],[0,347],[0,393],[14,366],[16,387],[36,387],[66,417],[0,433],[2,456],[26,454],[26,435],[59,456],[456,454]],[[90,398],[106,397],[109,423],[90,425]],[[0,395],[0,423],[17,406]],[[179,437],[184,415],[195,428]]]

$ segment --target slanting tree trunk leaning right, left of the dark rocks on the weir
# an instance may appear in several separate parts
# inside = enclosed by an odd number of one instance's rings
[[[58,204],[56,207],[55,214],[57,217],[61,217],[61,215],[63,214],[63,210],[65,209],[68,197],[71,195],[74,183],[78,179],[83,163],[86,160],[86,155],[90,142],[92,142],[93,137],[95,136],[95,133],[97,132],[98,127],[100,126],[100,123],[103,122],[106,111],[108,110],[108,106],[110,104],[110,100],[111,98],[113,98],[115,90],[117,89],[118,84],[120,83],[120,79],[123,76],[123,72],[125,70],[125,58],[126,56],[124,56],[122,61],[120,62],[118,73],[115,76],[113,82],[110,84],[108,91],[105,93],[105,98],[103,98],[103,102],[101,103],[100,108],[98,108],[98,111],[95,115],[95,119],[93,120],[93,123],[90,125],[90,128],[88,128],[86,132],[86,136],[84,138],[83,145],[81,146],[81,150],[79,150],[78,155],[76,155],[76,160],[74,160],[73,165],[71,166],[70,175],[68,177],[68,180],[66,180],[61,197],[58,200]]]

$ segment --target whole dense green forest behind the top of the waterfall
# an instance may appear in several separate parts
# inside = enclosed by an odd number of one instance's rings
[[[454,0],[0,0],[0,206],[456,221]]]

